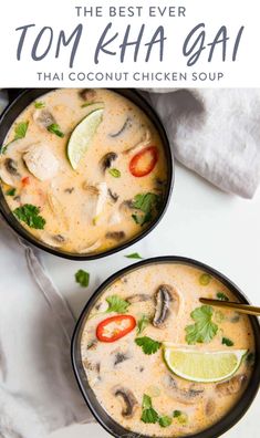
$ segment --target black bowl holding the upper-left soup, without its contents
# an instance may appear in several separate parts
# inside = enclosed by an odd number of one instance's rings
[[[1,148],[2,144],[4,142],[4,138],[13,124],[13,122],[17,119],[17,117],[20,115],[20,113],[34,100],[38,97],[42,96],[43,94],[53,91],[55,88],[30,88],[30,90],[24,90],[18,94],[18,96],[13,100],[13,102],[6,108],[3,114],[0,117],[0,154],[1,154]],[[4,196],[2,194],[2,190],[0,189],[0,212],[7,220],[7,222],[10,225],[10,227],[22,238],[28,240],[30,243],[33,243],[35,247],[50,252],[51,254],[64,258],[64,259],[70,259],[70,260],[94,260],[94,259],[100,259],[106,255],[114,254],[117,251],[124,250],[125,248],[138,242],[141,239],[143,239],[145,236],[147,236],[160,221],[163,218],[169,199],[170,199],[170,194],[174,185],[174,164],[173,164],[173,157],[171,157],[171,152],[170,152],[170,146],[169,146],[169,140],[167,138],[165,128],[158,117],[158,115],[155,113],[155,111],[152,108],[152,106],[145,101],[144,97],[142,97],[136,91],[131,90],[131,88],[112,88],[112,91],[121,94],[124,97],[127,97],[129,101],[132,101],[136,106],[138,106],[152,121],[152,123],[155,125],[157,128],[159,136],[163,142],[165,155],[166,155],[166,163],[167,163],[167,185],[165,187],[165,196],[164,196],[164,201],[162,205],[162,210],[159,215],[156,217],[156,219],[150,222],[150,225],[144,229],[143,232],[134,237],[133,239],[129,239],[128,241],[124,242],[123,244],[113,248],[111,250],[100,252],[96,254],[79,254],[79,253],[70,253],[66,251],[62,251],[61,249],[53,248],[44,242],[41,242],[34,236],[32,236],[29,231],[25,230],[25,228],[22,227],[22,225],[15,219],[15,217],[12,215]],[[13,93],[11,94],[13,96]]]

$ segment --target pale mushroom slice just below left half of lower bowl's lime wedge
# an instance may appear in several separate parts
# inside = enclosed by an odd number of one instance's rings
[[[189,385],[187,388],[180,388],[177,380],[169,374],[163,377],[163,385],[170,397],[184,405],[193,405],[202,398],[202,388],[196,389],[194,385]]]

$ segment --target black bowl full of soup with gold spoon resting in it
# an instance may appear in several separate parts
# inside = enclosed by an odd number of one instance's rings
[[[217,437],[250,405],[260,380],[258,321],[200,298],[245,302],[217,271],[158,258],[121,271],[86,305],[74,369],[115,437]]]

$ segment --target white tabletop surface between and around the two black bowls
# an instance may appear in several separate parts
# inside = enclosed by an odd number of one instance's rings
[[[253,200],[223,194],[177,166],[170,206],[163,221],[141,243],[94,262],[71,262],[44,254],[55,284],[79,315],[87,295],[115,270],[129,264],[124,254],[138,251],[143,257],[179,254],[215,267],[237,283],[260,305],[260,190]],[[79,268],[91,272],[91,286],[81,290],[74,282]],[[226,438],[259,436],[260,394],[240,423]],[[56,431],[50,438],[110,437],[98,425],[80,425]]]

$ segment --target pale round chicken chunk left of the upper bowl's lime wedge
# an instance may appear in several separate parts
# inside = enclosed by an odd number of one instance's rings
[[[23,160],[34,177],[41,181],[52,179],[59,171],[59,160],[43,144],[32,145],[23,155]]]

